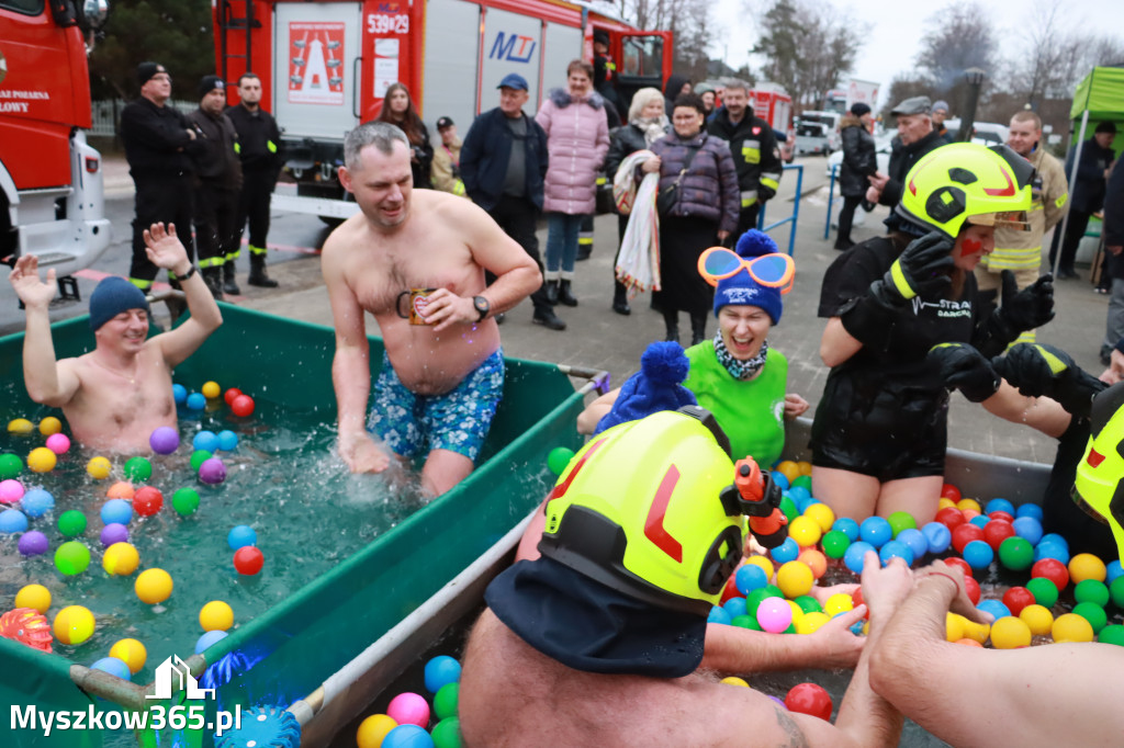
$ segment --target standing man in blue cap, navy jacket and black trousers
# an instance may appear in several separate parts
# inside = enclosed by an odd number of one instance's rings
[[[523,112],[527,81],[509,73],[500,81],[499,107],[477,117],[461,146],[461,179],[472,201],[488,211],[500,228],[543,270],[535,229],[543,210],[546,175],[546,133]],[[531,321],[551,330],[565,322],[546,300],[545,286],[531,294]]]

